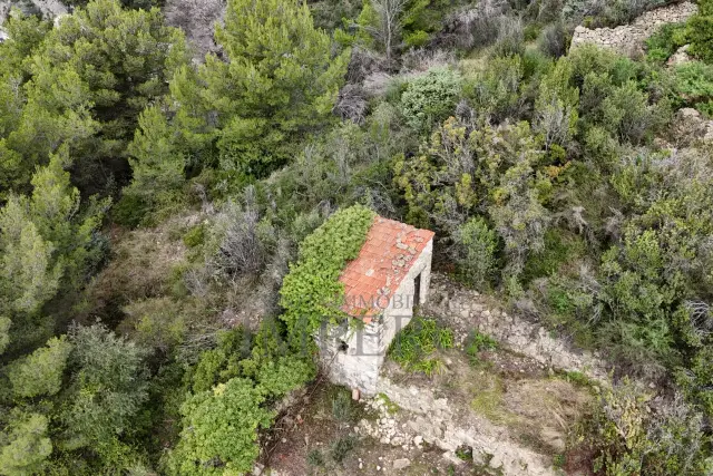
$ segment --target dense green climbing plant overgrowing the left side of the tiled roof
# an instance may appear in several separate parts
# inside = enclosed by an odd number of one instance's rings
[[[340,210],[300,245],[299,260],[280,290],[285,309],[281,319],[293,347],[300,349],[302,340],[311,340],[323,323],[345,317],[339,309],[344,293],[339,274],[359,254],[373,218],[374,213],[362,205]]]

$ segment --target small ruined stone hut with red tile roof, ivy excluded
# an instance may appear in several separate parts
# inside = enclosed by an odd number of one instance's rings
[[[342,310],[363,326],[325,328],[318,337],[333,382],[375,394],[391,341],[411,321],[414,307],[426,302],[432,254],[433,232],[374,218],[359,256],[340,275]]]

